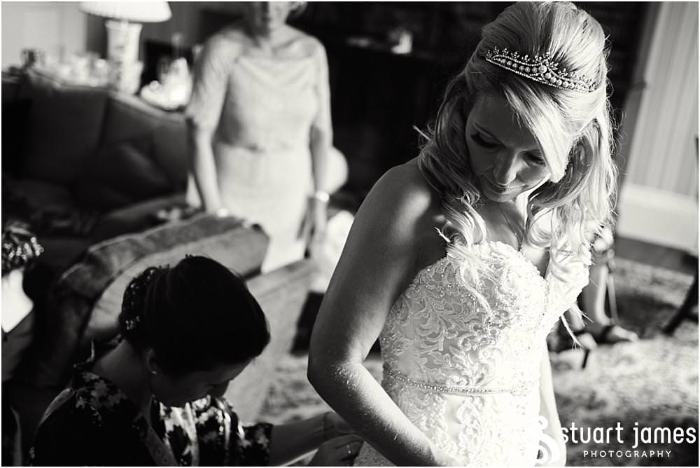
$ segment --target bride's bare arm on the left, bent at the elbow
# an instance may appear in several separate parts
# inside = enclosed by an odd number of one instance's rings
[[[416,273],[429,196],[411,184],[408,172],[389,171],[358,211],[311,336],[309,381],[388,460],[434,466],[448,460],[362,364],[395,298]]]

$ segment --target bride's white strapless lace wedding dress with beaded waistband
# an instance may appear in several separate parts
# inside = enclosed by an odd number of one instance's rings
[[[468,265],[448,249],[419,271],[388,314],[379,337],[381,385],[455,464],[533,466],[545,337],[587,283],[587,267],[569,260],[566,273],[555,275],[550,260],[542,277],[510,245],[469,248],[495,273],[496,281],[482,276],[477,285],[491,312],[463,287],[459,272]],[[365,443],[355,465],[391,462]]]

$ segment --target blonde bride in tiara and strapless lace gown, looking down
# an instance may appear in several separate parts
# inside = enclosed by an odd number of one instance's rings
[[[418,158],[367,195],[309,355],[367,442],[356,464],[566,461],[545,336],[587,283],[584,226],[612,212],[606,55],[573,4],[510,6]],[[377,338],[381,385],[362,364]]]

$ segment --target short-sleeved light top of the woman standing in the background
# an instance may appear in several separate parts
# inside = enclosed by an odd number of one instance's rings
[[[241,53],[240,34],[228,28],[207,41],[187,115],[200,128],[215,129],[218,141],[230,146],[307,147],[314,119],[330,119],[318,115],[317,88],[328,86],[323,46],[313,40],[312,52],[294,58],[256,56]]]

